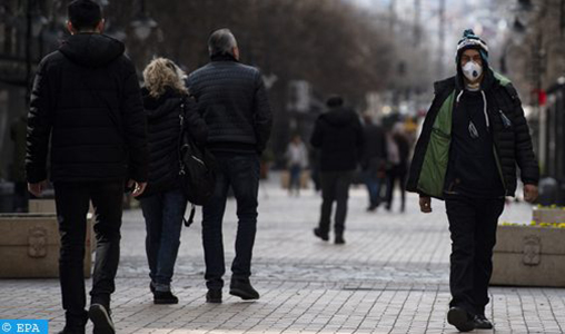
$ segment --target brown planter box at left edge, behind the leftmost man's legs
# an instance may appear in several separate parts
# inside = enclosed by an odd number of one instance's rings
[[[86,249],[91,249],[91,215]],[[0,215],[0,277],[59,277],[60,237],[54,214]],[[85,252],[85,276],[90,277],[92,253]]]

